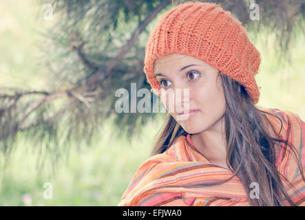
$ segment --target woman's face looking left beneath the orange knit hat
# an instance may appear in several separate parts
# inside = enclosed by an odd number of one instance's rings
[[[226,102],[221,79],[217,80],[217,69],[193,56],[169,54],[156,59],[154,72],[160,87],[173,91],[161,96],[161,100],[167,111],[173,103],[169,113],[187,133],[220,129]],[[179,90],[180,94],[176,93]],[[187,115],[179,115],[187,110]],[[192,110],[198,111],[192,114]]]

